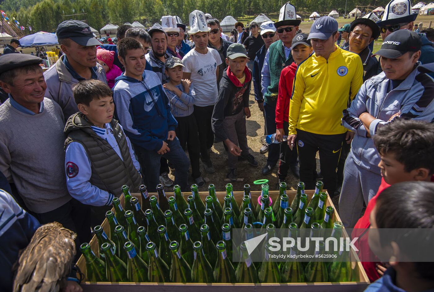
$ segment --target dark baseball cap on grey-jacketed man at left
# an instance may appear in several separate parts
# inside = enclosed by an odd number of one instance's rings
[[[72,39],[86,47],[101,45],[101,42],[93,36],[89,25],[79,20],[66,20],[60,23],[56,29],[56,36],[58,39]]]

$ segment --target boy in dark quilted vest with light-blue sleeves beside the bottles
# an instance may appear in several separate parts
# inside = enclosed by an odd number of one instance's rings
[[[122,185],[138,192],[140,165],[130,140],[113,119],[112,91],[102,81],[89,79],[73,88],[79,112],[66,122],[66,185],[72,197],[92,205],[92,220],[100,224]],[[93,222],[92,222],[93,223]],[[95,224],[92,224],[95,226]]]

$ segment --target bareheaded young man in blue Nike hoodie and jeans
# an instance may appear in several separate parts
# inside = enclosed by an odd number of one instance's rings
[[[125,73],[116,78],[113,88],[116,114],[134,145],[148,191],[155,192],[160,184],[161,156],[174,165],[175,184],[184,191],[189,162],[176,137],[177,121],[160,78],[145,70],[143,45],[137,40],[119,41],[118,55]]]

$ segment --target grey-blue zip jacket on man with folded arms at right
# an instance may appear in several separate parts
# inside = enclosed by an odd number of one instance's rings
[[[399,118],[418,119],[432,122],[434,119],[434,80],[425,73],[434,71],[434,63],[418,66],[396,88],[388,91],[390,80],[384,72],[365,81],[351,102],[343,111],[342,125],[355,132],[351,143],[350,156],[354,162],[374,173],[380,174],[377,166],[380,156],[371,137],[358,119],[368,112],[376,119],[369,125],[371,136],[375,135],[378,124],[387,124],[390,117],[401,112]]]

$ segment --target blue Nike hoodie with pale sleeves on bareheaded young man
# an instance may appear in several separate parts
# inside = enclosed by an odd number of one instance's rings
[[[115,111],[133,144],[158,151],[167,140],[168,131],[174,131],[178,123],[170,111],[169,99],[158,75],[145,70],[142,79],[123,74],[115,79]]]

